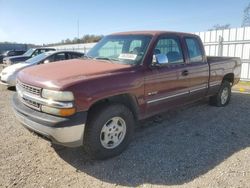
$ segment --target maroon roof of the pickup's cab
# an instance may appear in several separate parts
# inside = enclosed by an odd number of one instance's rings
[[[118,32],[113,33],[111,35],[162,35],[162,34],[174,34],[174,35],[191,35],[196,36],[192,33],[183,33],[183,32],[175,32],[175,31],[127,31],[127,32]]]

